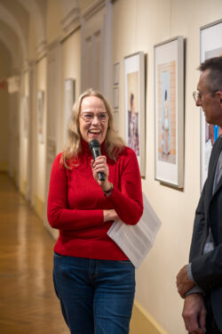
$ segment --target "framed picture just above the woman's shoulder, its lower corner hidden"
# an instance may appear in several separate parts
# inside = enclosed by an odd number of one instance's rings
[[[135,151],[140,174],[145,176],[145,57],[134,53],[124,58],[125,142]]]

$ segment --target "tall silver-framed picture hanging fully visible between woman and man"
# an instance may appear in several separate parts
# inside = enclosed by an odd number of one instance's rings
[[[184,186],[184,39],[155,45],[155,179]]]

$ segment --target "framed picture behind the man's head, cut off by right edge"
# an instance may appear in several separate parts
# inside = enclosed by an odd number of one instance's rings
[[[222,20],[201,28],[201,62],[222,55]],[[210,153],[213,144],[222,134],[219,126],[209,125],[201,113],[201,191],[207,178]]]

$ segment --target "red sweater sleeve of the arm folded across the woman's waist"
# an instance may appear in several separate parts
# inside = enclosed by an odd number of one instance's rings
[[[67,208],[67,171],[59,166],[59,154],[52,166],[49,195],[48,221],[53,228],[61,230],[82,230],[103,224],[103,210],[79,210]]]

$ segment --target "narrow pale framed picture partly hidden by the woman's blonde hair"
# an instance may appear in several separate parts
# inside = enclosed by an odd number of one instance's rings
[[[65,134],[67,141],[67,125],[71,116],[71,111],[75,102],[75,80],[67,78],[65,80]]]

